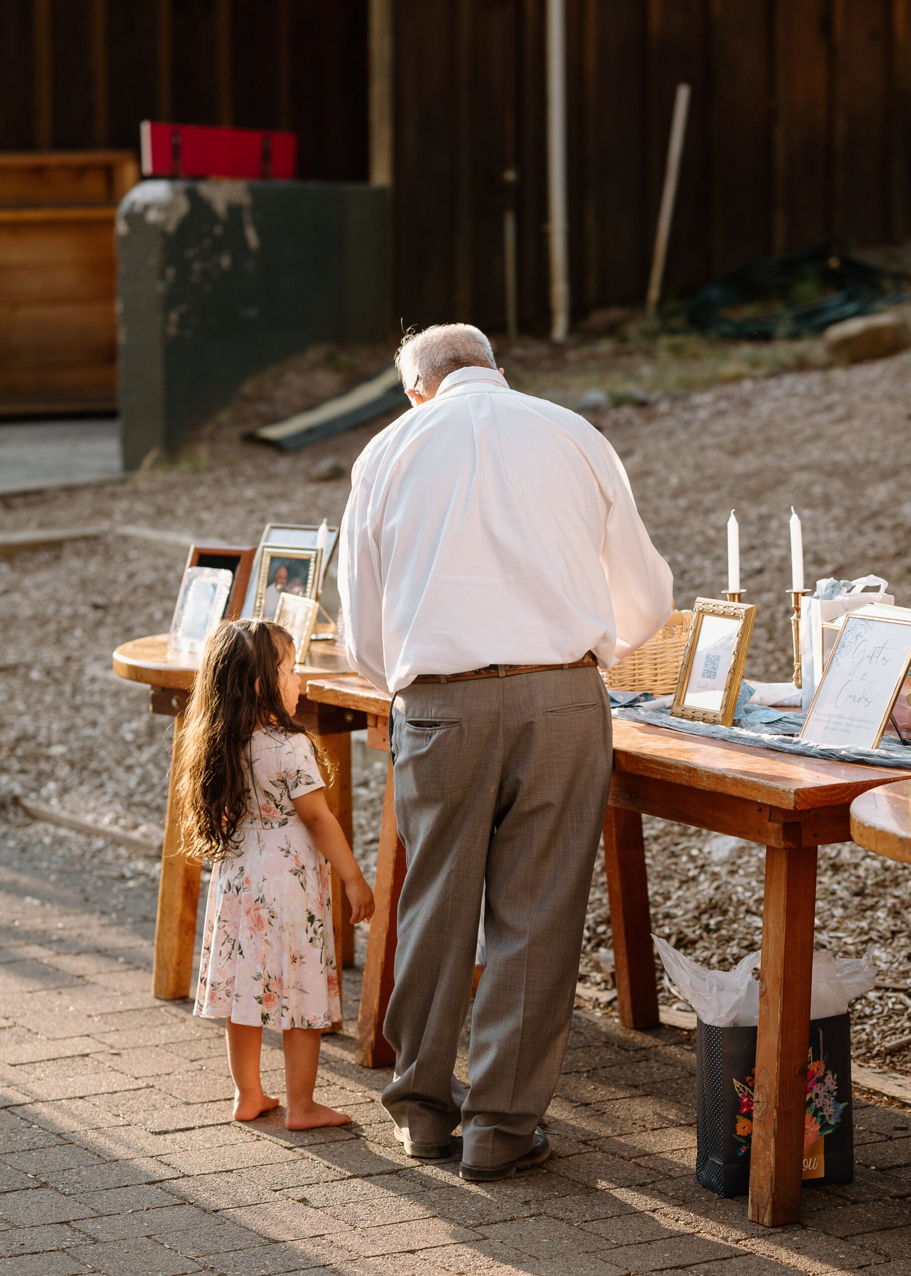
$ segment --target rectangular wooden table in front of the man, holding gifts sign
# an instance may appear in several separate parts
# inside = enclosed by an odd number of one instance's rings
[[[389,697],[361,678],[314,679],[311,701],[364,713],[367,744],[389,748]],[[766,894],[749,1216],[796,1222],[803,1174],[817,847],[851,836],[855,798],[908,772],[754,749],[614,720],[614,775],[604,827],[618,1011],[628,1027],[658,1023],[642,817],[749,838],[766,846]],[[901,786],[905,787],[905,786]],[[404,847],[393,810],[392,763],[380,831],[376,912],[370,925],[356,1059],[383,1067]]]

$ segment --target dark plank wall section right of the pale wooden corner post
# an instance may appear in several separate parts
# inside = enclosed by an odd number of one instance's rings
[[[573,310],[644,297],[676,84],[693,87],[678,293],[831,235],[911,235],[910,0],[568,0]],[[406,322],[547,313],[545,0],[397,0],[396,269]],[[510,140],[514,139],[514,140]]]

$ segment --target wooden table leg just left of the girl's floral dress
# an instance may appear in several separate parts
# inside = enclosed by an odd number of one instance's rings
[[[167,790],[165,845],[158,884],[158,916],[154,928],[152,995],[176,1000],[190,993],[193,948],[196,942],[200,864],[190,864],[180,852],[180,812],[174,777],[180,759],[184,716],[174,720],[171,783]]]

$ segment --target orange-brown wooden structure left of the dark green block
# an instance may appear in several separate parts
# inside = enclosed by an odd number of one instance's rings
[[[0,154],[0,416],[117,403],[117,203],[124,151]]]

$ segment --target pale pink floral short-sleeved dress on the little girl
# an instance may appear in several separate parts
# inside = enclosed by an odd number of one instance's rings
[[[272,1028],[342,1018],[332,877],[293,806],[323,787],[305,735],[254,731],[248,822],[212,870],[194,1014]]]

